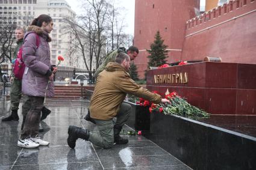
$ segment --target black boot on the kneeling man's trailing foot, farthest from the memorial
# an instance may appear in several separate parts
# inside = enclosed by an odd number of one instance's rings
[[[67,138],[67,144],[70,148],[75,148],[75,142],[78,138],[88,141],[90,137],[90,131],[77,126],[69,126],[67,132],[69,137]]]

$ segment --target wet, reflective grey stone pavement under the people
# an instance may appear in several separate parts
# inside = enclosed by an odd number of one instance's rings
[[[21,105],[21,104],[20,104]],[[0,121],[0,169],[190,169],[183,162],[143,136],[123,135],[126,145],[114,145],[104,150],[88,141],[78,139],[75,149],[67,145],[70,125],[96,131],[94,124],[83,119],[88,100],[46,100],[51,114],[42,121],[40,137],[49,141],[47,147],[26,149],[17,147],[22,115],[19,121]],[[0,120],[10,113],[10,101],[1,98]],[[125,132],[131,129],[123,128]]]

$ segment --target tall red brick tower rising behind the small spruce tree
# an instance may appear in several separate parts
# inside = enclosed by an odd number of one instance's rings
[[[154,7],[154,8],[153,8]],[[181,59],[181,50],[186,32],[186,21],[195,17],[199,0],[136,0],[134,45],[140,50],[135,59],[140,78],[148,66],[148,53],[154,35],[159,30],[164,44],[167,44],[169,62]]]

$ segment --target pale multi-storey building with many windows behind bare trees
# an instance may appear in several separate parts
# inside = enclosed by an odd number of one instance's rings
[[[80,68],[86,70],[83,56],[79,50],[74,49],[73,35],[66,33],[64,18],[75,20],[76,13],[64,0],[0,0],[0,22],[12,22],[17,26],[27,28],[31,21],[40,14],[48,14],[54,21],[54,30],[50,37],[51,62],[58,63],[58,56],[61,55],[64,61],[60,66]],[[84,40],[86,41],[86,40]],[[86,50],[88,52],[88,50]],[[89,54],[88,54],[89,55]],[[87,56],[88,56],[87,55]],[[88,59],[87,59],[88,60]],[[4,63],[2,63],[4,64]],[[5,63],[7,64],[7,63]],[[10,65],[10,64],[8,64]],[[93,67],[95,68],[95,61]]]

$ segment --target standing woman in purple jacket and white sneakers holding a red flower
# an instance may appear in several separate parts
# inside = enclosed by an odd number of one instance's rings
[[[52,80],[57,67],[51,65],[48,44],[51,41],[49,33],[52,29],[52,18],[42,14],[33,20],[24,36],[22,58],[26,68],[22,78],[22,92],[30,98],[31,108],[17,142],[20,147],[36,148],[39,145],[49,145],[49,142],[39,138],[39,123],[45,95],[54,96]]]

